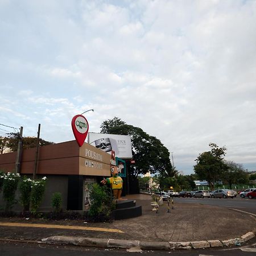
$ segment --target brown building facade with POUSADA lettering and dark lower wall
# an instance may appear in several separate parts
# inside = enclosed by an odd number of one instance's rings
[[[23,150],[20,175],[32,177],[35,155],[36,148]],[[88,143],[79,147],[76,141],[40,147],[36,177],[47,177],[46,193],[40,210],[51,210],[51,196],[54,192],[61,192],[63,209],[84,210],[86,185],[110,176],[110,158],[108,153]],[[16,152],[1,154],[0,170],[13,172],[15,160]],[[16,197],[18,199],[18,193]]]

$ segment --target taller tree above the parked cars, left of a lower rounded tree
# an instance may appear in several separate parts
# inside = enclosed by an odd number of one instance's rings
[[[195,173],[200,180],[207,180],[210,189],[214,190],[214,183],[220,179],[221,173],[226,170],[224,156],[226,154],[226,147],[218,147],[217,144],[210,143],[210,151],[203,152],[195,160]]]

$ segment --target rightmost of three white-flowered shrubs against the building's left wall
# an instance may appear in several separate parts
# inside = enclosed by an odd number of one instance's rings
[[[36,214],[38,212],[38,208],[42,203],[44,191],[46,189],[46,177],[43,177],[39,180],[34,180],[32,182],[31,189],[31,213]]]

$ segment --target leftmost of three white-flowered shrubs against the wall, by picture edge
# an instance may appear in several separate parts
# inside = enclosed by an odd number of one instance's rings
[[[7,172],[3,177],[3,200],[6,201],[6,212],[11,210],[13,205],[17,203],[15,192],[18,187],[19,177],[19,174],[14,174],[13,172]]]

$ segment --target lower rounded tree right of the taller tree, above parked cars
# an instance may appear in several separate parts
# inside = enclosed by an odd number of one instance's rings
[[[233,161],[225,161],[226,167],[221,174],[222,181],[228,183],[232,189],[232,184],[249,183],[249,175],[243,169],[242,164],[234,163]]]

